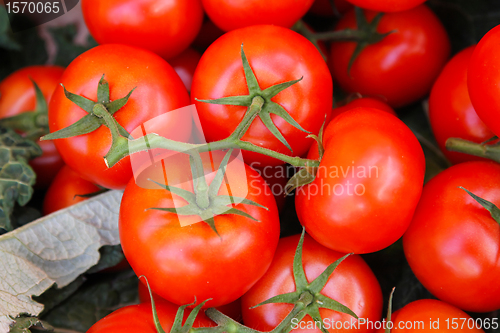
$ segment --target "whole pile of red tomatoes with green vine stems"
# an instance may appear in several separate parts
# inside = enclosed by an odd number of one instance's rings
[[[292,318],[315,332],[318,318],[380,322],[386,290],[364,256],[401,239],[439,300],[394,312],[396,331],[500,309],[500,165],[446,149],[450,138],[498,145],[500,26],[450,60],[425,1],[348,2],[82,0],[100,45],[65,69],[29,67],[0,83],[2,118],[35,109],[30,79],[49,103],[42,140],[53,141],[32,161],[37,184],[51,182],[45,214],[124,191],[121,246],[164,329],[187,304],[203,307],[194,327],[222,325],[205,315],[212,307],[247,326],[232,332]],[[336,20],[328,47],[316,47],[328,33],[294,25],[308,11]],[[398,116],[427,96],[438,148],[456,165],[424,185],[421,137]],[[285,163],[294,175],[266,174]],[[305,236],[284,237],[298,230],[286,227],[290,211]],[[88,332],[155,332],[144,290],[143,304]]]

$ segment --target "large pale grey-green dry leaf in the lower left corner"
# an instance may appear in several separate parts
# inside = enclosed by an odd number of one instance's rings
[[[0,236],[0,332],[42,312],[33,296],[67,286],[98,263],[100,247],[119,244],[121,197],[109,191]]]

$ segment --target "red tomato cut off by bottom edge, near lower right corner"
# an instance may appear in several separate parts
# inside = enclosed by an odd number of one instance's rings
[[[487,319],[486,319],[487,320]],[[394,333],[481,333],[478,323],[456,307],[436,299],[421,299],[405,305],[391,316]],[[489,320],[491,324],[491,320]],[[389,324],[391,325],[391,324]],[[476,326],[477,325],[477,326]],[[382,328],[377,333],[384,333]]]

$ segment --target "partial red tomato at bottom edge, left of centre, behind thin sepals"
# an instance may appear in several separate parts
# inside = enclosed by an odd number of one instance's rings
[[[174,323],[178,306],[168,302],[155,301],[156,311],[160,324],[165,332],[170,332]],[[213,321],[202,313],[198,314],[193,327],[217,326]],[[184,320],[190,313],[189,309],[184,312]],[[125,306],[95,323],[87,333],[157,333],[153,322],[153,310],[151,304],[143,303]]]

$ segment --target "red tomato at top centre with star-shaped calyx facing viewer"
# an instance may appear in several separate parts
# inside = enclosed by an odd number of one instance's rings
[[[207,141],[225,139],[246,112],[244,106],[196,102],[247,95],[248,88],[241,61],[241,44],[261,89],[297,80],[272,101],[281,105],[304,129],[318,133],[332,107],[332,82],[328,68],[314,45],[301,35],[275,26],[251,26],[231,31],[215,41],[203,54],[193,78],[191,98],[196,104]],[[216,65],[214,65],[216,64]],[[293,149],[294,156],[305,154],[312,139],[282,118],[271,119]],[[255,119],[243,140],[291,155],[262,123]],[[283,162],[261,154],[244,152],[248,164],[279,165]]]

